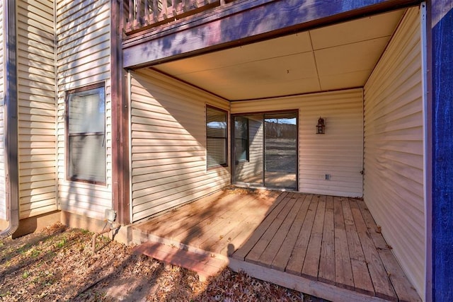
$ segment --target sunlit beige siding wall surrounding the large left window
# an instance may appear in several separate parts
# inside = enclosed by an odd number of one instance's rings
[[[110,1],[57,1],[58,196],[64,211],[103,219],[112,208]],[[66,179],[66,91],[105,83],[106,185]]]

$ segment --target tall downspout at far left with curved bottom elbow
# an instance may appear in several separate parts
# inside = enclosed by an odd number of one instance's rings
[[[11,236],[19,227],[16,1],[6,0],[4,12],[6,12],[4,13],[4,39],[6,41],[4,155],[8,228],[0,233],[0,238]]]

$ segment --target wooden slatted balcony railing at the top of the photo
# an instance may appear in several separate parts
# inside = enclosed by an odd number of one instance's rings
[[[232,0],[230,0],[232,1]],[[125,33],[131,35],[221,6],[228,0],[124,0]]]

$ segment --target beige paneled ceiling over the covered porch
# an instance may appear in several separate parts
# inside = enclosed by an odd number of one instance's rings
[[[227,100],[362,87],[405,10],[153,66]]]

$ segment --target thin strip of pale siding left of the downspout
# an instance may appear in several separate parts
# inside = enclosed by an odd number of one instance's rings
[[[0,219],[6,220],[6,195],[5,195],[5,140],[4,140],[4,104],[5,104],[5,68],[4,68],[4,9],[0,1]]]

